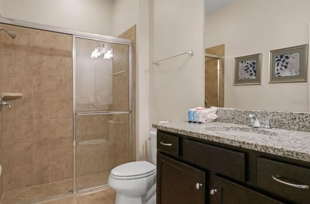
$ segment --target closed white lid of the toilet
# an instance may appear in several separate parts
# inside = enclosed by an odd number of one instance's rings
[[[111,175],[117,177],[144,177],[142,175],[150,175],[156,172],[156,166],[147,161],[134,161],[121,164],[111,171]]]

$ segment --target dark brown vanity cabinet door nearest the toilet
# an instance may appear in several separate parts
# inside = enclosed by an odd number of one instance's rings
[[[204,204],[205,173],[157,153],[157,204]]]

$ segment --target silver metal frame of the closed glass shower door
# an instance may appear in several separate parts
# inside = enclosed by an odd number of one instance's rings
[[[89,112],[76,112],[76,38],[83,38],[83,39],[88,39],[88,40],[94,40],[94,41],[102,41],[102,42],[107,42],[107,43],[115,43],[115,44],[124,44],[128,45],[129,48],[129,109],[128,111],[89,111]],[[104,186],[107,186],[108,184],[104,184],[101,186],[96,186],[96,187],[91,187],[91,188],[86,188],[86,189],[76,189],[76,116],[81,116],[81,115],[108,115],[108,114],[128,114],[129,117],[129,138],[128,138],[128,153],[129,153],[129,158],[128,160],[131,161],[131,137],[132,137],[132,116],[131,116],[131,88],[132,88],[132,44],[131,41],[130,43],[125,43],[125,42],[119,42],[119,41],[113,41],[109,40],[106,38],[97,38],[97,37],[88,37],[88,36],[81,36],[81,35],[72,35],[72,61],[73,61],[73,193],[84,191],[84,190],[90,190],[90,189],[97,189],[101,188]]]

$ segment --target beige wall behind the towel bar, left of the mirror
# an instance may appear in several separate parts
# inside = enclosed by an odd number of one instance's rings
[[[204,0],[154,0],[152,60],[194,50],[150,67],[150,124],[186,120],[204,105]]]

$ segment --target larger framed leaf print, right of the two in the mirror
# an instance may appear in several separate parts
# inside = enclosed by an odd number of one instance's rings
[[[269,51],[269,83],[307,82],[308,44]]]

